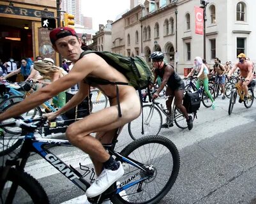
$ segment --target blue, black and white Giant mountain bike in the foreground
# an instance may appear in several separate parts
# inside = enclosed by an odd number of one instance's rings
[[[80,161],[80,168],[65,164],[51,147],[73,147],[67,140],[36,138],[34,132],[46,119],[17,120],[6,126],[22,128],[24,142],[17,156],[7,159],[0,168],[0,195],[2,203],[49,203],[47,194],[40,183],[24,171],[31,152],[39,154],[67,179],[84,192],[95,180],[93,164],[89,156]],[[100,196],[90,198],[91,203],[158,203],[172,188],[179,172],[179,152],[169,139],[163,136],[146,136],[135,140],[121,152],[115,149],[117,130],[111,144],[103,145],[117,161],[124,166],[124,175]],[[85,154],[85,153],[83,153]]]

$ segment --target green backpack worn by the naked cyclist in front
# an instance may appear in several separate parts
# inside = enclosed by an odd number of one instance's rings
[[[135,89],[146,89],[153,82],[154,76],[148,64],[142,57],[126,57],[112,52],[86,51],[80,58],[89,53],[95,53],[102,57],[108,64],[116,68],[128,79],[128,85]],[[112,84],[112,83],[111,83]],[[118,84],[118,83],[116,83]]]

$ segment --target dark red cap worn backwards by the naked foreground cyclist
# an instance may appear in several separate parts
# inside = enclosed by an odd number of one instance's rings
[[[64,38],[66,36],[77,36],[77,33],[75,33],[75,30],[70,27],[57,27],[56,29],[50,31],[49,36],[52,45],[54,45],[55,41],[59,38]]]

